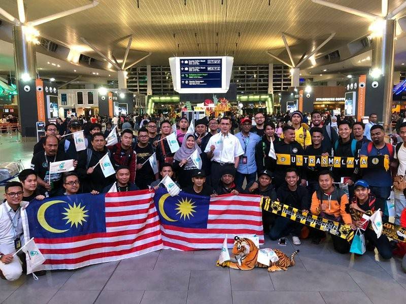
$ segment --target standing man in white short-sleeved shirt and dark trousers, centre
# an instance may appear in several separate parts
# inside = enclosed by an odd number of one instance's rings
[[[217,185],[219,182],[224,166],[234,166],[236,169],[240,156],[244,154],[240,140],[230,134],[230,128],[231,120],[223,117],[220,120],[220,133],[210,137],[205,149],[208,159],[212,161],[212,185]]]

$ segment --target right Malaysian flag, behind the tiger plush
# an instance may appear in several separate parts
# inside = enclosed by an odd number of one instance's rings
[[[260,199],[246,194],[210,198],[184,192],[171,197],[158,188],[154,201],[164,248],[218,249],[226,235],[229,248],[234,236],[257,236],[263,244]]]

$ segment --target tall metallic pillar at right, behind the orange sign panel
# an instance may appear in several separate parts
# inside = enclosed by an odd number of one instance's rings
[[[382,37],[374,38],[372,54],[372,70],[379,69],[383,76],[384,97],[383,117],[384,128],[391,131],[392,115],[392,79],[394,65],[396,20],[385,20]],[[380,76],[380,75],[379,75]],[[376,77],[379,77],[376,75]]]

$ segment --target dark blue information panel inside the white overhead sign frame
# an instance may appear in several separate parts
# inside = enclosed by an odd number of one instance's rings
[[[181,58],[181,89],[221,88],[222,58]]]

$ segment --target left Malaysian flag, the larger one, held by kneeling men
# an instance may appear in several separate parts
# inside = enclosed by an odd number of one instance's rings
[[[42,269],[76,269],[162,249],[153,196],[143,190],[31,201],[21,213],[24,240],[35,239],[46,259]]]

